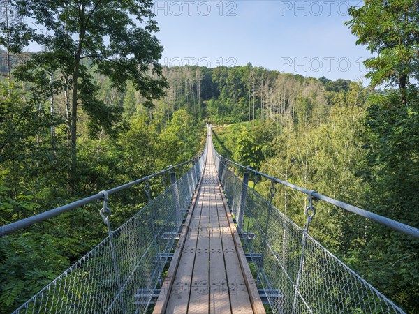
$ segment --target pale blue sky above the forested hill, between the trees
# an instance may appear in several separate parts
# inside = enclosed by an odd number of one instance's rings
[[[332,80],[358,80],[370,57],[344,22],[362,1],[154,1],[169,66],[263,66]]]

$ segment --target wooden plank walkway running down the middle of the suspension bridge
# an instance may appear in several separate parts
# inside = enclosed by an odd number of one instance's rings
[[[153,313],[265,313],[211,149]]]

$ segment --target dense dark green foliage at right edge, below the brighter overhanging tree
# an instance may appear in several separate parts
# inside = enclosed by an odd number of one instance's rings
[[[362,175],[370,184],[367,207],[377,214],[419,227],[418,215],[418,100],[409,100],[409,106],[394,107],[398,94],[377,96],[380,105],[369,107],[362,134],[367,158]],[[419,267],[416,252],[419,241],[400,236],[386,228],[372,225],[366,252],[359,252],[372,283],[383,287],[383,292],[394,296],[406,308],[418,304],[419,289],[416,272]],[[372,258],[374,257],[374,258]],[[371,262],[369,262],[371,261]],[[386,281],[376,278],[377,269],[389,269]]]

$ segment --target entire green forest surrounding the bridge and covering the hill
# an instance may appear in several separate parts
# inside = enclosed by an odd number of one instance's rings
[[[369,87],[251,63],[162,66],[151,1],[128,2],[2,1],[0,225],[188,160],[210,122],[223,156],[419,227],[417,1],[351,8],[348,29],[375,53],[365,61]],[[25,51],[30,42],[43,49]],[[163,188],[152,182],[152,195]],[[279,189],[274,204],[303,226],[304,197],[287,193]],[[112,228],[146,203],[142,187],[112,200]],[[98,209],[1,237],[0,313],[105,237]],[[311,234],[395,304],[419,311],[418,240],[324,204]]]

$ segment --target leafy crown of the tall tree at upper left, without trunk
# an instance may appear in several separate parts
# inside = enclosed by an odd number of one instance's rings
[[[163,93],[165,80],[155,80],[147,73],[152,66],[152,72],[161,75],[157,60],[163,50],[152,35],[159,31],[150,9],[152,1],[16,1],[15,6],[21,15],[49,31],[31,39],[52,51],[50,59],[65,58],[65,73],[88,57],[95,70],[120,89],[131,80],[149,99]],[[143,22],[144,27],[135,21]]]

